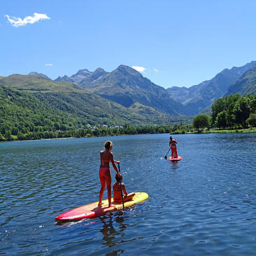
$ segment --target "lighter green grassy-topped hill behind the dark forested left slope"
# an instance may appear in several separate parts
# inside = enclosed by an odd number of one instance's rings
[[[13,74],[0,77],[0,85],[12,90],[20,90],[30,94],[33,101],[39,99],[47,106],[62,111],[62,115],[73,115],[76,120],[89,125],[163,125],[170,119],[169,115],[161,113],[155,108],[134,106],[126,108],[114,101],[104,99],[89,92],[79,85],[71,82],[55,82],[41,75]],[[13,94],[17,94],[13,92]],[[20,94],[15,96],[15,99]],[[27,97],[26,99],[32,99]],[[20,97],[23,101],[24,97]],[[4,105],[5,99],[0,97],[0,104]],[[33,109],[31,109],[33,111]],[[174,118],[175,119],[175,118]],[[183,118],[178,119],[180,122]]]

